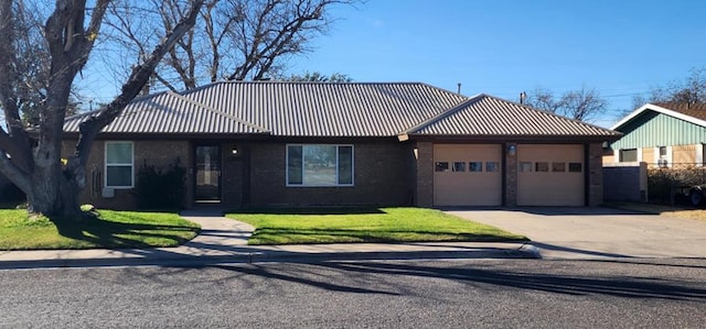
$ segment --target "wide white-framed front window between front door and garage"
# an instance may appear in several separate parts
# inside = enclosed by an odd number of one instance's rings
[[[287,145],[287,185],[353,185],[353,146]]]

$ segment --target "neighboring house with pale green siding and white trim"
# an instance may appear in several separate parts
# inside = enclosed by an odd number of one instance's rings
[[[607,149],[603,163],[645,162],[649,167],[704,166],[706,105],[648,103],[611,130],[623,136]]]

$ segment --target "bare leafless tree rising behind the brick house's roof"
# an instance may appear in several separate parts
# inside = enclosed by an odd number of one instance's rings
[[[133,10],[141,2],[131,0],[116,2],[109,9],[120,13],[108,21],[116,41],[131,44],[132,55],[138,58],[160,31],[169,31],[182,14],[179,8],[183,0],[151,1],[160,4],[158,11]],[[202,20],[156,70],[157,88],[180,90],[221,79],[280,77],[289,58],[311,51],[311,41],[328,31],[333,23],[329,15],[332,7],[359,1],[206,0]],[[139,17],[142,23],[132,24],[135,19],[126,15]]]

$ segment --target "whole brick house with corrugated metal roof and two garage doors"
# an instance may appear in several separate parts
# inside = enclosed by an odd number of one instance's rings
[[[92,114],[66,119],[64,152]],[[417,83],[224,81],[132,101],[94,143],[81,198],[132,208],[139,167],[179,157],[184,207],[598,205],[618,136]]]

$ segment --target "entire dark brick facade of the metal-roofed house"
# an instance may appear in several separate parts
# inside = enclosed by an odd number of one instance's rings
[[[93,145],[87,166],[87,186],[81,200],[99,208],[133,209],[132,189],[115,189],[115,197],[103,197],[105,185],[105,141]],[[242,206],[345,206],[381,205],[434,206],[434,143],[363,141],[354,146],[354,186],[299,187],[286,184],[287,143],[218,142],[221,146],[221,199],[224,207]],[[505,143],[503,152],[510,145]],[[75,141],[64,142],[64,154],[72,152]],[[193,206],[194,141],[133,141],[135,173],[147,164],[163,167],[178,157],[186,167],[186,195],[183,206]],[[602,202],[602,147],[588,144],[588,204]],[[236,153],[233,150],[237,150]],[[505,206],[517,202],[517,160],[504,156]]]

